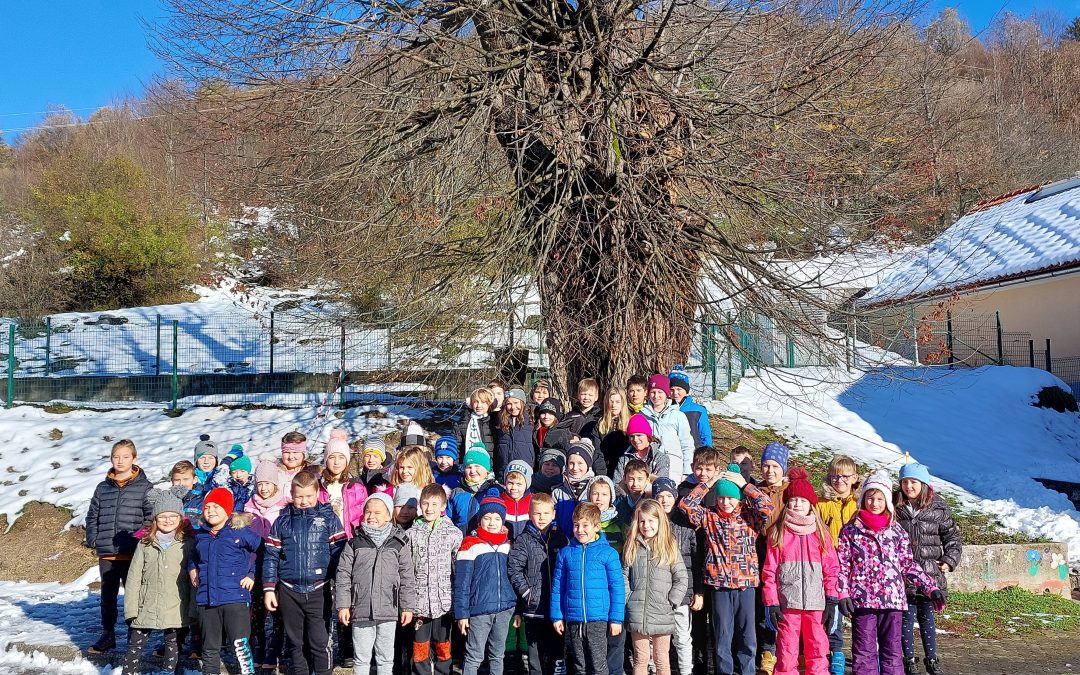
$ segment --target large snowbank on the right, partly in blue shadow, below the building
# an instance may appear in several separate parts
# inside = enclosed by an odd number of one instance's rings
[[[1034,480],[1080,483],[1080,416],[1030,405],[1051,386],[1067,389],[1032,368],[769,369],[712,410],[893,472],[910,453],[935,488],[1007,527],[1067,542],[1078,562],[1080,514]]]

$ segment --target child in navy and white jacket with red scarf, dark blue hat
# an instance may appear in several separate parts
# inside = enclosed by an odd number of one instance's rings
[[[462,675],[476,675],[485,656],[490,675],[502,675],[507,633],[517,605],[507,573],[507,508],[498,496],[485,497],[477,516],[480,525],[461,542],[454,566],[454,618],[467,636]]]

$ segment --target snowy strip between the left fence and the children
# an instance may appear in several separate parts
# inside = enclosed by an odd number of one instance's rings
[[[444,420],[460,406],[436,403],[420,408],[404,400],[384,399],[383,405],[347,408],[340,419],[328,414],[316,417],[314,408],[195,408],[180,417],[168,417],[160,409],[73,410],[65,415],[28,406],[3,409],[0,514],[13,523],[27,502],[46,501],[71,509],[71,524],[81,525],[94,487],[109,468],[112,443],[124,437],[135,442],[137,463],[157,483],[167,481],[167,472],[177,461],[193,460],[194,445],[203,433],[211,435],[222,455],[240,443],[254,460],[262,454],[276,454],[281,436],[299,429],[311,440],[311,451],[319,455],[335,427],[345,428],[350,438],[359,438],[392,431],[402,418],[421,424]]]

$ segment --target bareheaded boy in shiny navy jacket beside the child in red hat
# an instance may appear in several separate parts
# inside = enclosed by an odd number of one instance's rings
[[[262,558],[262,590],[269,611],[281,610],[293,672],[329,675],[333,670],[325,620],[327,579],[345,546],[345,528],[329,503],[319,503],[319,478],[301,471],[293,478],[293,501],[270,527]],[[311,657],[310,663],[308,654]]]

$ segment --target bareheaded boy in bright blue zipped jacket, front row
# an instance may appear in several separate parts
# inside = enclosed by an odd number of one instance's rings
[[[575,673],[608,675],[608,634],[622,634],[625,609],[619,554],[600,536],[599,508],[581,502],[573,509],[573,537],[558,552],[551,580],[551,620],[567,639]]]

